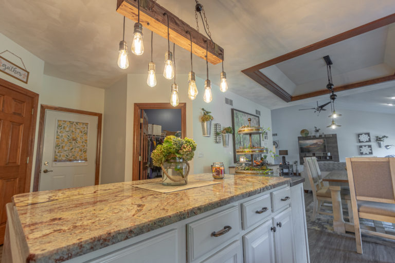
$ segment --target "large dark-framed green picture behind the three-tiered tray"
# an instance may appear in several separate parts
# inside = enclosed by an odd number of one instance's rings
[[[249,145],[249,136],[248,135],[240,135],[237,133],[239,128],[243,125],[248,125],[248,118],[251,118],[251,126],[260,126],[259,123],[259,116],[249,114],[247,112],[237,110],[237,109],[231,109],[232,110],[232,127],[233,130],[235,131],[233,133],[233,156],[234,156],[234,161],[238,162],[238,158],[236,155],[236,149],[246,146],[248,147]],[[255,146],[261,146],[261,135],[253,135],[252,136],[252,143],[253,147]],[[261,158],[262,155],[257,154],[254,155],[254,159],[256,158]],[[249,157],[247,157],[249,158]]]

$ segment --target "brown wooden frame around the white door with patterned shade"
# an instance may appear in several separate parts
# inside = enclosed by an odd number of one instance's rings
[[[99,184],[100,176],[100,149],[101,149],[101,126],[102,126],[102,114],[93,111],[70,109],[58,106],[51,106],[41,104],[40,107],[40,120],[39,120],[39,136],[37,142],[37,156],[35,160],[35,171],[33,181],[33,192],[39,191],[40,176],[41,176],[41,163],[43,160],[43,148],[44,148],[44,126],[45,126],[45,112],[46,110],[56,110],[67,113],[75,113],[82,115],[97,116],[97,142],[96,142],[96,164],[95,164],[95,185]]]

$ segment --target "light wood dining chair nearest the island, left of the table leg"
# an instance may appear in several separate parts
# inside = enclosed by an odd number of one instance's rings
[[[314,160],[315,159],[315,160]],[[304,170],[307,172],[309,177],[311,189],[313,192],[313,220],[315,220],[317,213],[333,216],[333,213],[328,213],[321,211],[322,206],[332,206],[325,203],[332,204],[331,190],[329,186],[325,186],[322,178],[320,176],[318,163],[315,157],[303,157],[304,160]],[[317,164],[315,164],[317,163]],[[318,169],[316,168],[318,167]],[[350,200],[350,192],[346,189],[340,191],[340,197],[343,200]],[[350,204],[351,205],[351,204]]]

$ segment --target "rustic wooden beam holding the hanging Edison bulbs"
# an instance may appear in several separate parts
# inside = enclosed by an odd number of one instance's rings
[[[137,22],[137,8],[137,1],[135,0],[117,0],[117,12],[135,22]],[[186,31],[189,31],[191,32],[193,42],[192,52],[195,55],[206,60],[206,41],[208,41],[208,62],[216,65],[223,61],[224,49],[222,47],[211,42],[206,36],[199,33],[164,7],[161,7],[158,3],[154,4],[152,0],[140,1],[141,25],[167,39],[167,17],[163,15],[164,13],[167,13],[169,16],[169,40],[171,42],[190,51],[190,36],[186,33]]]

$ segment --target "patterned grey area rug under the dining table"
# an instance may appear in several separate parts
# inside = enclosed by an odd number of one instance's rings
[[[346,206],[346,205],[344,205],[344,206]],[[344,220],[347,222],[348,221],[348,211],[345,210],[344,206],[343,206],[343,215],[344,215]],[[347,208],[347,206],[346,206],[346,208]],[[326,208],[324,208],[324,209],[321,209],[321,211],[332,213],[331,208],[329,208],[328,210]],[[306,208],[307,228],[319,230],[319,231],[324,231],[327,233],[333,233],[333,234],[340,235],[340,236],[355,238],[354,233],[351,233],[351,232],[346,232],[346,233],[335,232],[333,230],[333,216],[317,214],[315,220],[312,220],[312,216],[313,216],[313,203],[310,203]],[[373,220],[369,220],[369,219],[360,219],[360,224],[365,225],[365,226],[374,227]],[[385,230],[394,231],[394,227],[393,227],[392,223],[383,222],[383,226],[384,226]],[[385,245],[385,246],[395,247],[395,240],[391,240],[391,239],[387,239],[387,238],[376,237],[376,236],[367,236],[367,235],[362,234],[362,240],[378,243],[378,244]]]

